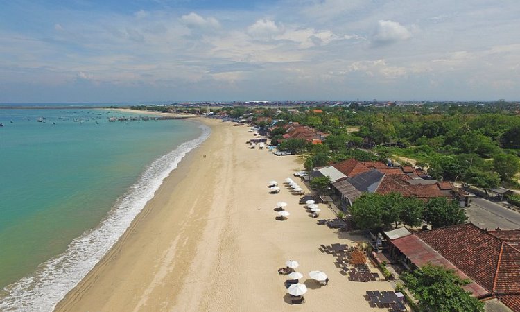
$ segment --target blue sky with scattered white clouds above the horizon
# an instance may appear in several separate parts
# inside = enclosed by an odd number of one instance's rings
[[[520,100],[518,0],[0,7],[0,103]]]

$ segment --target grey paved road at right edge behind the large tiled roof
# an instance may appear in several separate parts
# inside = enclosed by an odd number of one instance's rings
[[[483,198],[471,198],[471,206],[466,207],[466,214],[469,221],[480,228],[520,228],[520,214],[517,211],[512,211]]]

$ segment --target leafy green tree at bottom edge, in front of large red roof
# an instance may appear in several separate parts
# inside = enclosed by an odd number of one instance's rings
[[[484,303],[461,288],[469,279],[460,279],[453,270],[427,264],[413,273],[404,272],[401,279],[424,311],[484,311]]]

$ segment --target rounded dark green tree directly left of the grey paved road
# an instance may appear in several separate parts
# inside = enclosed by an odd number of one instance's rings
[[[434,197],[428,200],[424,207],[424,221],[434,229],[465,223],[466,220],[466,213],[460,209],[456,200]]]

